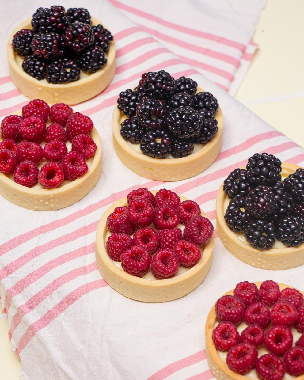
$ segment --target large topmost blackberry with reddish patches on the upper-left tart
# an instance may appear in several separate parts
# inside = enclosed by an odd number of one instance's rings
[[[65,13],[65,8],[60,5],[53,5],[51,8],[38,8],[32,18],[33,31],[36,33],[55,32],[62,35],[69,22]]]

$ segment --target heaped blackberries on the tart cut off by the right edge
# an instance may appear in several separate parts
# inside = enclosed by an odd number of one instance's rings
[[[287,247],[304,242],[304,169],[284,180],[281,171],[274,155],[255,153],[246,169],[234,169],[224,181],[223,190],[231,199],[226,224],[260,250],[270,249],[275,240]]]

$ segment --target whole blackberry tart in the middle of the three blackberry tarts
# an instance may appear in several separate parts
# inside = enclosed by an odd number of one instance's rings
[[[144,73],[119,94],[112,114],[119,159],[142,177],[176,181],[196,176],[222,147],[223,114],[217,99],[184,76]]]

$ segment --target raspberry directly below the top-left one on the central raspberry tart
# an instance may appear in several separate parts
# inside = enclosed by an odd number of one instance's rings
[[[149,226],[154,219],[154,207],[149,201],[137,198],[129,203],[128,218],[139,227]]]

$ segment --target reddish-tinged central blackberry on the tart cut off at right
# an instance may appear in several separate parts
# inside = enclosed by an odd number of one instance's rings
[[[257,219],[265,219],[278,209],[277,200],[270,187],[257,186],[249,192],[245,201],[246,211]]]

